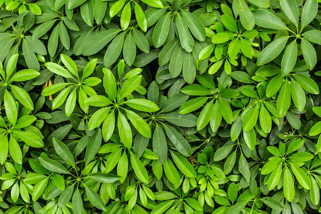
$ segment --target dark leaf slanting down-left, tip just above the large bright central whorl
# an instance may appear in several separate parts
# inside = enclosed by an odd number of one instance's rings
[[[118,34],[113,41],[109,44],[105,55],[104,55],[104,65],[105,67],[111,66],[116,62],[119,55],[122,52],[125,40],[125,32]]]

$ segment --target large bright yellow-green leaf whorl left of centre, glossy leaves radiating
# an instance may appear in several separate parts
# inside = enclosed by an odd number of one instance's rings
[[[106,94],[91,96],[85,100],[85,104],[102,107],[92,114],[88,124],[89,130],[103,123],[103,138],[107,142],[114,133],[115,124],[117,124],[118,134],[122,143],[130,149],[133,133],[128,120],[140,134],[146,138],[151,138],[151,129],[139,115],[139,111],[154,112],[158,111],[159,107],[152,101],[145,98],[134,98],[132,95],[135,90],[143,94],[146,93],[146,89],[139,86],[143,79],[141,75],[143,69],[134,68],[126,74],[124,74],[124,71],[124,61],[120,61],[117,65],[116,80],[111,70],[103,68],[103,85]],[[127,118],[125,115],[127,115]]]

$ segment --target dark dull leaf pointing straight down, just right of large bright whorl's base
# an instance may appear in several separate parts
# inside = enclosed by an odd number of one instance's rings
[[[158,161],[165,164],[167,158],[167,142],[163,129],[156,124],[153,133],[153,151],[158,156]]]

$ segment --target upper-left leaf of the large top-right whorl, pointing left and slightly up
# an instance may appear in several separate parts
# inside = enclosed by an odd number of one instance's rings
[[[296,4],[295,4],[296,5]],[[275,30],[287,30],[288,27],[273,13],[259,9],[252,11],[255,17],[255,24],[263,27]]]

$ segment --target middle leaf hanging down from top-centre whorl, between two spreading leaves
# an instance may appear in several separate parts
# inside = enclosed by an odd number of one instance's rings
[[[176,29],[178,31],[178,37],[180,45],[182,45],[183,49],[187,52],[192,52],[194,46],[194,40],[191,33],[188,30],[187,24],[184,21],[184,18],[180,16],[179,13],[176,15]],[[203,24],[202,24],[203,25]]]

